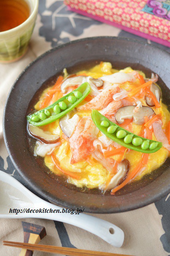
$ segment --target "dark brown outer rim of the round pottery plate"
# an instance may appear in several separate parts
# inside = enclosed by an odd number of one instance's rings
[[[24,75],[24,73],[32,66],[34,65],[37,61],[43,59],[46,55],[50,54],[51,52],[55,52],[57,51],[58,49],[61,49],[61,48],[64,48],[64,47],[67,47],[68,45],[71,45],[71,44],[76,44],[78,42],[82,42],[82,41],[92,41],[92,40],[95,40],[95,39],[103,39],[103,38],[108,38],[108,39],[113,39],[113,40],[123,40],[123,41],[130,41],[130,42],[136,42],[137,44],[139,45],[148,45],[149,47],[151,48],[156,48],[158,49],[159,51],[162,51],[163,53],[166,53],[169,57],[170,57],[170,54],[167,53],[165,50],[163,49],[160,49],[156,46],[153,46],[153,45],[150,45],[150,44],[147,44],[146,42],[143,42],[143,41],[139,41],[139,40],[136,40],[136,39],[129,39],[129,38],[123,38],[123,37],[89,37],[89,38],[83,38],[83,39],[78,39],[78,40],[75,40],[75,41],[71,41],[71,42],[68,42],[66,44],[63,44],[63,45],[59,45],[55,48],[52,48],[50,50],[48,50],[47,52],[43,53],[41,56],[39,56],[37,59],[35,59],[34,61],[32,61],[29,65],[27,65],[27,67],[21,72],[21,74],[18,76],[18,78],[15,80],[13,86],[11,87],[11,90],[8,94],[8,97],[7,97],[7,100],[5,102],[5,106],[4,106],[4,114],[3,114],[3,133],[4,133],[4,141],[5,141],[5,146],[7,148],[7,151],[8,151],[8,154],[11,158],[11,161],[12,163],[14,164],[15,168],[18,170],[19,174],[24,178],[24,180],[37,192],[39,193],[40,195],[44,196],[46,198],[46,200],[51,200],[63,207],[69,207],[69,208],[75,208],[75,207],[80,207],[80,205],[76,205],[76,204],[72,204],[72,203],[66,203],[65,201],[63,200],[60,200],[56,197],[53,197],[52,195],[49,195],[48,192],[46,190],[43,190],[41,187],[37,187],[34,182],[34,180],[30,180],[28,176],[26,176],[26,174],[24,174],[22,172],[22,170],[20,169],[20,167],[15,163],[15,159],[13,158],[12,156],[12,153],[10,151],[10,138],[7,138],[7,134],[6,134],[6,131],[5,131],[5,123],[7,122],[7,116],[5,116],[5,112],[7,110],[7,104],[8,104],[8,101],[10,101],[10,97],[12,97],[12,90],[15,89],[15,87],[17,86],[17,82],[20,78],[22,78],[22,76]],[[49,77],[47,77],[46,79],[48,79]],[[35,186],[34,186],[35,185]],[[155,193],[155,195],[152,195],[151,198],[147,199],[146,201],[143,201],[143,202],[137,202],[135,204],[132,204],[132,205],[129,205],[128,207],[123,207],[123,206],[120,206],[119,208],[110,208],[109,210],[105,208],[91,208],[91,207],[86,207],[85,208],[85,211],[86,212],[91,212],[91,213],[116,213],[116,212],[125,212],[125,211],[129,211],[129,210],[134,210],[134,209],[137,209],[137,208],[140,208],[140,207],[144,207],[148,204],[151,204],[153,202],[156,202],[157,200],[161,199],[163,196],[166,196],[168,193],[170,192],[170,184],[169,186],[167,186],[166,189],[164,189],[164,191],[160,192],[160,193]],[[135,193],[135,192],[132,192],[132,193]]]

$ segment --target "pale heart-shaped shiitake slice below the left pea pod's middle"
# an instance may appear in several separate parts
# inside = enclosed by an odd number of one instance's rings
[[[60,128],[68,138],[71,137],[79,120],[80,120],[80,117],[78,116],[78,114],[75,114],[72,118],[68,118],[67,116],[60,118],[60,122],[59,122]]]

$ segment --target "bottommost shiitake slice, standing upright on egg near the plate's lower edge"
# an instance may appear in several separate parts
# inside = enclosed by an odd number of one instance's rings
[[[123,159],[117,166],[117,173],[110,180],[106,190],[111,190],[117,185],[120,185],[126,178],[130,169],[130,163],[127,159]]]

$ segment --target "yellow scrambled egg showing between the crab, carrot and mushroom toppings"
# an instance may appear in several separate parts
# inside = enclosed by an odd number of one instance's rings
[[[128,67],[123,70],[120,70],[119,72],[128,73],[131,71],[133,71],[133,69]],[[96,65],[95,67],[93,67],[89,70],[79,71],[77,73],[77,75],[85,73],[87,76],[92,76],[93,78],[99,78],[103,75],[110,75],[115,72],[118,72],[118,70],[113,69],[111,63],[101,62],[100,64]],[[140,71],[139,73],[141,75],[143,75],[145,78],[145,75],[143,72]],[[67,75],[66,69],[64,70],[64,74],[65,74],[65,76]],[[133,83],[133,85],[132,85],[130,82],[126,82],[123,85],[121,85],[121,88],[129,90],[129,89],[135,88],[136,85],[139,86],[139,84]],[[41,100],[44,98],[44,95],[48,91],[48,89],[46,89],[42,93],[39,102],[37,102],[37,104],[35,105],[35,109],[39,110],[39,104],[41,103]],[[156,108],[153,108],[153,109],[156,112],[156,114],[162,114],[163,128],[166,128],[167,122],[170,120],[170,113],[167,110],[167,107],[163,103],[160,102],[160,104],[162,106],[162,110],[159,110]],[[90,116],[90,112],[89,111],[86,111],[86,112],[81,111],[81,112],[79,112],[79,116],[80,117]],[[42,128],[45,131],[49,131],[53,134],[58,134],[62,138],[63,132],[60,129],[59,120],[57,120],[49,125],[45,125]],[[139,134],[140,128],[141,128],[140,125],[133,124],[132,125],[133,133]],[[98,133],[98,136],[101,136],[100,132]],[[153,136],[153,139],[155,140],[154,136]],[[76,185],[76,187],[80,187],[80,188],[87,187],[89,189],[98,188],[98,187],[100,187],[101,184],[104,184],[107,181],[107,179],[109,178],[109,175],[110,175],[109,171],[106,170],[106,168],[103,167],[101,165],[101,163],[98,163],[94,158],[92,158],[92,156],[89,157],[88,162],[83,160],[83,161],[80,161],[78,163],[71,165],[70,164],[71,151],[69,148],[69,144],[68,144],[67,140],[65,140],[65,139],[61,140],[60,147],[57,148],[54,151],[54,153],[56,154],[56,157],[57,157],[58,161],[60,162],[60,166],[62,169],[67,170],[71,173],[76,173],[76,174],[80,175],[79,180],[76,180],[75,178],[72,178],[72,177],[68,178],[68,182]],[[126,151],[125,158],[128,159],[130,162],[130,165],[131,165],[130,172],[139,163],[139,161],[141,159],[141,155],[142,155],[142,153],[137,152],[137,151],[132,151],[132,150]],[[147,165],[146,169],[143,170],[143,172],[139,176],[137,176],[136,179],[140,179],[147,173],[150,173],[153,170],[157,169],[159,166],[162,165],[163,162],[165,162],[165,160],[168,156],[169,156],[169,152],[163,147],[159,151],[149,154],[148,165]],[[112,158],[116,160],[117,156],[114,156]],[[52,172],[54,172],[56,174],[63,175],[63,173],[54,165],[50,155],[46,155],[44,160],[45,160],[45,165]]]

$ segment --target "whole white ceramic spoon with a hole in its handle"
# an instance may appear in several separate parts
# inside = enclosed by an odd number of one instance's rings
[[[52,208],[61,213],[9,213],[9,210],[17,208],[23,210]],[[80,213],[69,214],[62,213],[63,208],[48,203],[31,191],[25,188],[19,181],[7,173],[0,171],[0,218],[40,218],[52,219],[54,221],[65,222],[82,229],[85,229],[109,244],[121,247],[124,241],[124,232],[117,226],[108,221],[93,217],[91,215]],[[75,210],[76,211],[76,210]]]

